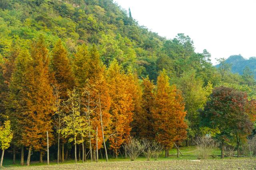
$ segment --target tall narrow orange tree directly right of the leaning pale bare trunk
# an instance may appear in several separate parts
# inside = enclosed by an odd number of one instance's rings
[[[107,82],[111,97],[110,115],[110,148],[118,156],[118,149],[130,134],[130,123],[132,122],[132,95],[129,92],[128,77],[121,70],[117,61],[114,60],[108,68]]]

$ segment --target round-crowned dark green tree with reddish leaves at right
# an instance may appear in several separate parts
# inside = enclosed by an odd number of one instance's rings
[[[230,87],[216,87],[210,95],[202,112],[202,125],[218,128],[216,137],[221,142],[221,155],[224,158],[224,143],[236,137],[238,156],[240,140],[252,132],[253,123],[250,120],[254,107],[247,99],[246,93]],[[250,109],[248,109],[250,108]]]

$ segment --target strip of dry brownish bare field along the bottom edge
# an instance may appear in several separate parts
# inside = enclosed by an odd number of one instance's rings
[[[11,167],[10,169],[32,170],[30,167]],[[255,158],[232,158],[224,160],[168,160],[168,161],[115,161],[99,163],[78,163],[78,164],[60,164],[50,166],[37,166],[39,169],[90,169],[90,170],[125,170],[125,169],[256,169]]]

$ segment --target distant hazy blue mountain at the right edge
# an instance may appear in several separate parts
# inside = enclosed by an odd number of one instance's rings
[[[250,57],[245,59],[242,55],[231,55],[225,61],[226,63],[232,64],[231,72],[243,74],[244,68],[247,66],[253,72],[254,77],[256,77],[256,57]],[[216,65],[218,67],[218,65]]]

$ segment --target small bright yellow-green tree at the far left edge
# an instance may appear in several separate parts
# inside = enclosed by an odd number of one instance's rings
[[[4,125],[0,127],[0,148],[2,149],[0,167],[3,165],[4,150],[9,148],[12,141],[12,135],[10,121],[4,121]]]

